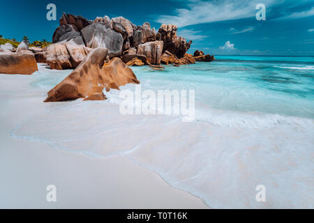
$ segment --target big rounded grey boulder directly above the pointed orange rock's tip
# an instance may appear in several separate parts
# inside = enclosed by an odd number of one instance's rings
[[[121,33],[107,28],[101,23],[91,24],[81,30],[87,47],[104,47],[108,49],[108,56],[121,55],[124,38]]]

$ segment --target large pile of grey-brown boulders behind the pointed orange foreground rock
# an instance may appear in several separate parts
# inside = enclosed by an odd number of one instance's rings
[[[52,43],[35,56],[38,62],[58,70],[77,68],[91,49],[97,47],[108,50],[107,60],[120,57],[128,66],[214,60],[214,56],[186,54],[192,41],[177,36],[177,26],[163,24],[156,32],[149,22],[136,26],[124,17],[111,20],[108,16],[96,17],[91,21],[63,13]]]

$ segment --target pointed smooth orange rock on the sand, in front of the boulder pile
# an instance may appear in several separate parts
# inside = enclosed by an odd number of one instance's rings
[[[107,49],[93,49],[73,72],[48,92],[45,102],[84,98],[104,100],[103,89],[119,89],[128,83],[139,84],[133,71],[115,57],[105,63]]]

